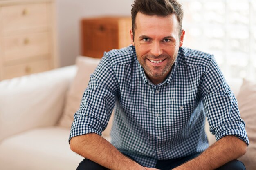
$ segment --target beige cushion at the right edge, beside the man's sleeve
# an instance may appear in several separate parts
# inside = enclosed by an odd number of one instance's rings
[[[249,138],[247,153],[240,160],[247,170],[256,170],[256,83],[243,79],[237,101]]]

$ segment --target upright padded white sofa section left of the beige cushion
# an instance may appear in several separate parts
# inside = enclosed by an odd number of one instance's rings
[[[42,126],[53,126],[62,111],[76,66],[0,82],[0,141]]]

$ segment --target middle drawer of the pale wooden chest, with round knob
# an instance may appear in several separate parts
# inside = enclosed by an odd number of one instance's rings
[[[49,33],[6,36],[3,41],[4,62],[49,54]]]

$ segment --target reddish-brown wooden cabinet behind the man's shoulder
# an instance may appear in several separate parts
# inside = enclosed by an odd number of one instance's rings
[[[84,18],[81,20],[81,55],[101,58],[104,51],[131,44],[131,17]]]

